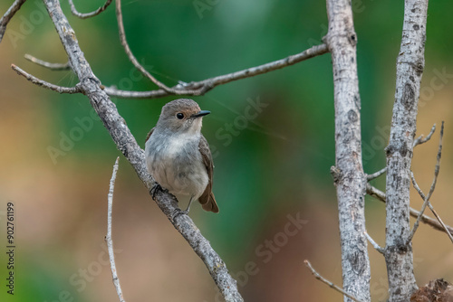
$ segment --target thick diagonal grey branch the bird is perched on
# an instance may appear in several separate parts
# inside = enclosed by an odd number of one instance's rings
[[[120,117],[115,104],[111,102],[106,92],[101,90],[101,82],[92,73],[88,61],[85,60],[75,33],[62,12],[60,3],[58,0],[43,0],[43,2],[52,17],[57,33],[60,35],[72,70],[80,80],[78,86],[90,99],[93,109],[98,113],[118,149],[128,159],[130,165],[134,167],[140,179],[150,191],[155,183],[146,169],[144,152],[130,133],[130,129],[126,126],[124,119]],[[178,212],[176,200],[169,193],[163,192],[156,193],[156,198],[156,203],[158,203],[162,212],[169,217],[169,221],[188,241],[192,249],[198,254],[198,257],[205,262],[209,273],[226,301],[243,301],[237,291],[236,280],[231,278],[224,261],[211,248],[209,241],[201,235],[194,222],[188,215],[175,215]]]

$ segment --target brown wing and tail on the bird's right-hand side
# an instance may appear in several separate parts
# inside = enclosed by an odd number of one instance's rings
[[[203,158],[203,163],[206,166],[208,177],[205,192],[203,192],[201,196],[198,198],[198,202],[201,203],[203,210],[210,212],[218,212],[216,198],[214,198],[214,193],[212,193],[212,175],[214,172],[214,165],[212,163],[211,150],[209,149],[207,140],[205,137],[203,137],[203,135],[201,135],[201,139],[199,140],[198,149],[199,152],[201,153],[201,157]]]

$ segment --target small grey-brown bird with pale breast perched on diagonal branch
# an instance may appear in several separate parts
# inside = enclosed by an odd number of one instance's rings
[[[202,118],[209,113],[192,99],[172,100],[162,108],[146,140],[149,174],[178,201],[188,197],[185,213],[197,199],[203,210],[218,212],[212,193],[212,155],[201,134]]]

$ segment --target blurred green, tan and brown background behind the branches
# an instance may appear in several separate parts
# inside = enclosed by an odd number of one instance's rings
[[[0,2],[4,14],[12,1]],[[352,1],[359,43],[363,162],[365,172],[385,165],[400,48],[403,1]],[[82,12],[103,2],[75,1]],[[323,1],[124,0],[130,47],[159,80],[203,80],[302,52],[327,31]],[[453,224],[453,61],[451,1],[429,4],[426,67],[417,134],[446,122],[439,182],[432,202]],[[80,20],[63,11],[106,86],[153,90],[124,54],[114,5]],[[0,44],[0,276],[2,301],[115,301],[104,245],[111,167],[120,152],[92,118],[82,95],[40,89],[11,70],[73,86],[71,71],[48,71],[24,60],[30,53],[65,62],[60,40],[38,0],[14,16]],[[114,99],[140,146],[159,118],[165,99]],[[195,98],[212,114],[203,133],[215,156],[214,192],[219,214],[198,204],[190,216],[239,279],[246,301],[341,301],[315,280],[304,260],[341,285],[337,203],[329,168],[334,165],[331,57],[235,81]],[[261,107],[252,104],[260,103]],[[246,119],[246,112],[254,118]],[[82,125],[82,126],[81,126]],[[69,137],[69,138],[68,138]],[[413,171],[428,190],[439,131],[418,146]],[[56,150],[60,150],[58,152]],[[55,153],[56,152],[56,153]],[[207,269],[151,200],[120,156],[115,187],[113,240],[127,301],[219,301]],[[373,181],[384,188],[384,177]],[[412,192],[411,204],[420,208]],[[15,292],[6,295],[5,211],[15,206]],[[384,245],[384,205],[366,200],[367,229]],[[300,229],[287,226],[300,219]],[[413,221],[412,221],[413,222]],[[285,231],[286,230],[286,231]],[[288,230],[290,230],[288,232]],[[373,300],[387,297],[385,262],[370,248]],[[419,285],[453,281],[448,237],[422,225],[414,239]]]

